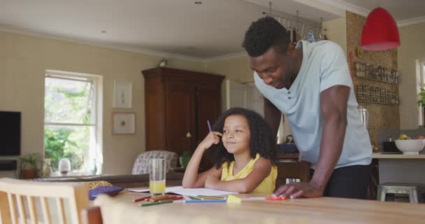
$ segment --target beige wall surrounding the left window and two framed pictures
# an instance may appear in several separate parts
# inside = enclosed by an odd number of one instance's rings
[[[103,76],[103,173],[129,174],[145,151],[145,102],[141,70],[161,57],[0,32],[0,110],[22,111],[22,155],[43,153],[45,69]],[[168,66],[205,71],[203,63],[168,59]],[[113,80],[133,83],[133,107],[113,109]],[[136,134],[111,135],[110,113],[136,112]],[[12,176],[0,172],[0,176]]]

